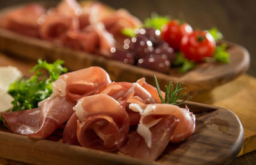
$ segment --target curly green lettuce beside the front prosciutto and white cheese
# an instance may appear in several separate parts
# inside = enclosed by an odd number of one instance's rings
[[[38,59],[38,64],[31,69],[30,73],[36,72],[28,80],[22,79],[20,82],[13,82],[8,90],[14,98],[11,111],[20,111],[37,108],[38,102],[46,99],[52,94],[51,83],[58,79],[62,72],[67,72],[67,68],[61,66],[64,62],[57,60],[53,64]],[[46,69],[49,78],[43,75],[42,69]]]

